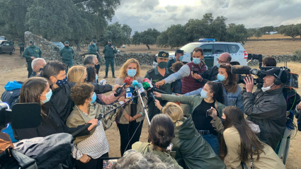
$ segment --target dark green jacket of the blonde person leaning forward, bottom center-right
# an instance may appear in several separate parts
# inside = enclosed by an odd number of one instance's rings
[[[184,115],[183,124],[174,128],[173,151],[175,159],[183,168],[226,168],[211,146],[196,131],[191,115]]]

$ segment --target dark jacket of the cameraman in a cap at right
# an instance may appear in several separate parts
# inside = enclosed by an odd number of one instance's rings
[[[283,88],[273,91],[249,93],[242,91],[244,113],[248,120],[259,125],[259,139],[276,149],[282,139],[286,123],[286,101]]]

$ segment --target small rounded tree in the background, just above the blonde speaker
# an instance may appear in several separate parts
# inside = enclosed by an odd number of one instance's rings
[[[135,34],[132,36],[132,42],[134,45],[144,44],[147,46],[148,49],[150,49],[149,45],[156,44],[157,37],[160,34],[161,33],[157,29],[150,29],[150,28],[144,30],[141,33],[135,31]]]

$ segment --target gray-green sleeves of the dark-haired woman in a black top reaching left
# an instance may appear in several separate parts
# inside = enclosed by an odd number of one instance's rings
[[[200,97],[200,95],[166,95],[161,94],[162,100],[168,100],[170,102],[178,102],[189,105],[189,111],[188,114],[193,114],[193,111],[195,110],[200,103],[202,103],[203,98]],[[226,107],[222,103],[215,102],[215,107],[217,108],[218,117],[222,117],[222,110]],[[187,114],[187,113],[185,113]]]

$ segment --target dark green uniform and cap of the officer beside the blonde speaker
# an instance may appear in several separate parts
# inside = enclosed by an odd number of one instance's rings
[[[159,52],[158,57],[168,59],[169,53],[163,51]],[[174,74],[174,71],[172,71],[171,69],[166,69],[164,76],[162,76],[161,74],[159,74],[158,66],[156,66],[154,69],[147,71],[147,74],[145,74],[144,78],[149,78],[149,80],[152,80],[153,83],[157,83],[158,81],[163,80],[164,78],[168,77],[171,74]],[[174,86],[176,86],[176,81],[173,83],[164,84],[163,85],[163,87],[165,88],[164,91],[166,91],[167,93],[171,93],[172,88],[174,88]],[[151,97],[148,98],[151,99]],[[162,106],[166,105],[167,103],[166,101],[161,100],[161,98],[157,98],[157,99],[160,101]],[[149,100],[148,107],[149,107],[149,121],[151,121],[154,115],[160,113],[160,110],[154,105],[154,100]]]

